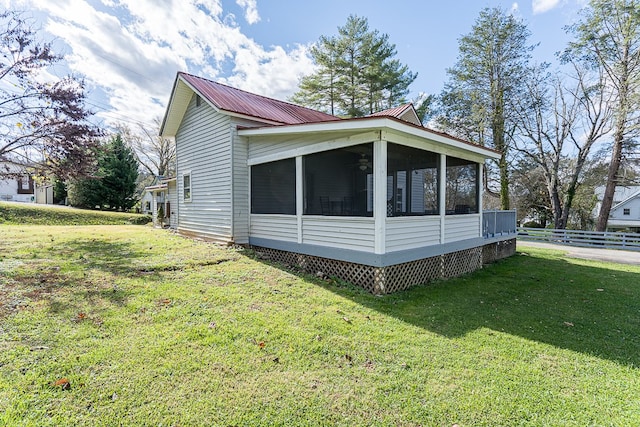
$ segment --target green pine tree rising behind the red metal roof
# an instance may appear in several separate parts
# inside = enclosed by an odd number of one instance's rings
[[[300,81],[293,102],[346,117],[360,117],[406,102],[417,74],[394,56],[387,34],[351,15],[338,35],[323,36],[311,49],[315,73]]]

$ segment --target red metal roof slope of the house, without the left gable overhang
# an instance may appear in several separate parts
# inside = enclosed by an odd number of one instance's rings
[[[192,74],[178,74],[220,110],[287,125],[340,120],[330,114],[245,92]]]

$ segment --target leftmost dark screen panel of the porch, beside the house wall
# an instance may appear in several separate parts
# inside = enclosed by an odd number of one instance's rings
[[[251,213],[296,214],[295,159],[251,166]]]

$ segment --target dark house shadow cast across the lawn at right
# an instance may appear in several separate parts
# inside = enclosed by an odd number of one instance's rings
[[[637,273],[518,252],[472,274],[383,297],[301,276],[446,337],[488,328],[640,367]]]

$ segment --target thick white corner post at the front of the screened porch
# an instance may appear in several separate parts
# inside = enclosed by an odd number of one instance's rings
[[[387,141],[373,143],[374,253],[383,254],[387,234]]]

